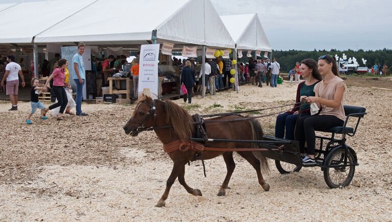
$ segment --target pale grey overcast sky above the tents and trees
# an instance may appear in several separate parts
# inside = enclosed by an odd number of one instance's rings
[[[0,3],[33,1],[37,0],[0,0]],[[258,13],[274,50],[392,49],[392,0],[211,2],[220,15]]]

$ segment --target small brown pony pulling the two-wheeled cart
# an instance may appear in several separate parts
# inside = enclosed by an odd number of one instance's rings
[[[229,115],[210,118],[211,119],[238,119],[242,116]],[[139,98],[135,111],[131,119],[123,127],[126,134],[137,136],[148,128],[154,127],[159,140],[163,144],[168,144],[175,140],[189,142],[194,133],[193,119],[189,113],[182,107],[171,101],[152,100],[148,96]],[[168,127],[169,126],[169,127]],[[233,122],[206,122],[205,129],[208,138],[213,139],[234,139],[234,140],[261,140],[262,129],[259,122],[255,120],[233,121]],[[259,147],[255,143],[237,143],[237,142],[207,142],[205,146],[219,148],[236,148],[236,147]],[[185,164],[192,161],[197,152],[191,149],[186,151],[176,150],[168,155],[173,160],[173,170],[166,182],[166,189],[156,207],[165,206],[165,200],[168,197],[170,187],[176,178],[186,191],[193,195],[202,195],[199,189],[193,189],[185,183]],[[265,183],[261,174],[261,169],[268,170],[266,158],[260,151],[254,152],[237,152],[246,159],[257,172],[259,184],[265,191],[269,190],[269,185]],[[218,196],[224,196],[228,187],[230,177],[233,174],[235,163],[233,152],[204,151],[198,159],[212,159],[223,155],[227,167],[227,175],[222,186],[218,191]]]

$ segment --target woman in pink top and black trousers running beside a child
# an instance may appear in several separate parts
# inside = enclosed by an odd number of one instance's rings
[[[68,104],[67,94],[65,92],[65,68],[68,66],[66,59],[60,59],[58,62],[59,67],[54,69],[51,76],[46,80],[44,88],[47,88],[49,82],[53,79],[53,92],[56,94],[57,103],[52,106],[45,108],[45,113],[49,110],[60,107],[59,113],[57,114],[57,120],[63,120],[63,113]],[[69,83],[66,83],[69,87]]]

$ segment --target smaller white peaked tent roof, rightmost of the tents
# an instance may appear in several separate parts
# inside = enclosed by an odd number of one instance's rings
[[[271,52],[267,36],[257,14],[220,16],[239,50]]]

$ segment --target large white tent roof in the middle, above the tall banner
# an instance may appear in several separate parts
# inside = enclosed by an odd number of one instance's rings
[[[89,17],[102,9],[114,13]],[[124,15],[122,17],[122,15]],[[235,43],[210,0],[97,0],[35,37],[36,43],[80,42],[90,45],[158,43],[234,48]]]

